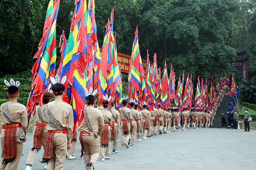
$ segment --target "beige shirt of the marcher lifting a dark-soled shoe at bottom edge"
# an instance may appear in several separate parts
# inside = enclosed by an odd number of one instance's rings
[[[96,109],[92,106],[87,106],[86,110],[87,110],[87,115],[88,115],[89,122],[92,126],[92,131],[94,133],[99,132],[100,134],[102,134],[102,131],[103,131],[103,128],[104,128],[103,114],[101,113],[101,111],[99,109]],[[86,123],[85,120],[81,124],[80,131],[91,132],[91,130],[87,126],[87,123]],[[83,135],[94,135],[94,134],[85,133]]]

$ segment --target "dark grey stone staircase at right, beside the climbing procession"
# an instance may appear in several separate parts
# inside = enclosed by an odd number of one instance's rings
[[[221,112],[224,112],[225,116],[226,116],[226,124],[227,124],[227,128],[229,126],[228,124],[228,114],[227,114],[227,110],[228,110],[228,104],[230,104],[230,101],[233,100],[233,97],[231,96],[224,96],[222,102],[220,103],[220,107],[218,107],[216,115],[214,117],[214,120],[212,121],[212,125],[210,125],[210,128],[222,128],[222,124],[221,124]]]

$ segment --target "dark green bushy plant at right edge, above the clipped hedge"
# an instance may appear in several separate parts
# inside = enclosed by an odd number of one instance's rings
[[[240,91],[244,102],[256,104],[256,79],[244,81]]]

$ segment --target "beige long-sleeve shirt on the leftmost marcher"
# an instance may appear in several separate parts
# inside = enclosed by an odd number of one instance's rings
[[[26,107],[23,104],[20,104],[18,102],[8,102],[7,105],[12,115],[13,121],[21,124],[21,128],[24,130],[24,133],[26,136],[27,126],[28,126],[28,114],[27,114]],[[11,122],[8,122],[3,115],[2,105],[0,110],[2,115],[2,125],[11,124]],[[1,134],[0,134],[1,138],[4,138],[4,130],[5,129],[2,129],[1,131]],[[16,136],[19,135],[19,130],[20,128],[17,129]]]

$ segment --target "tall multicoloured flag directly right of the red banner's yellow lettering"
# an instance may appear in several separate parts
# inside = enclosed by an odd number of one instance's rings
[[[138,26],[135,31],[135,38],[132,45],[132,54],[128,74],[129,92],[134,89],[138,95],[138,100],[142,103],[146,99],[145,72],[140,57]]]

